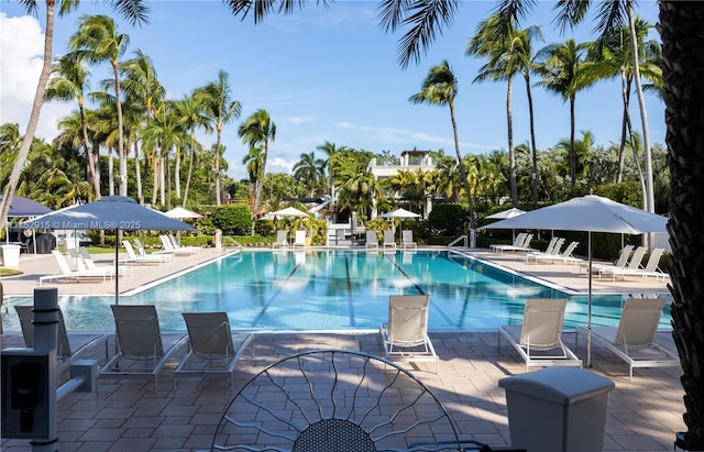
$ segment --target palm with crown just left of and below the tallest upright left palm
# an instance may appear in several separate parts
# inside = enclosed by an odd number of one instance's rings
[[[86,89],[88,89],[89,71],[77,54],[62,56],[52,68],[48,86],[44,92],[45,100],[76,101],[80,119],[80,133],[86,156],[86,179],[92,185],[96,199],[100,199],[100,179],[96,177],[95,157],[90,152],[88,124],[86,123]]]

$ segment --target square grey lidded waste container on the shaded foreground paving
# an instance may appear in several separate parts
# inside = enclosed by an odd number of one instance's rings
[[[502,378],[510,442],[528,452],[604,449],[608,378],[573,367],[550,367]]]

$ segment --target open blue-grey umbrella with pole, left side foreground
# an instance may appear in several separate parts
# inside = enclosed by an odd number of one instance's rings
[[[118,231],[193,231],[196,229],[188,223],[146,208],[127,196],[105,196],[95,202],[70,206],[20,223],[18,228],[114,230],[116,305],[120,300]]]

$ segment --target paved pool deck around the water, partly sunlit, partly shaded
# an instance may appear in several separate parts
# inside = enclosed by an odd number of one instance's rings
[[[232,250],[228,250],[230,252]],[[562,264],[528,264],[512,253],[495,254],[472,250],[472,254],[521,274],[529,274],[549,284],[583,291],[587,278],[579,266]],[[134,266],[132,275],[121,278],[120,290],[128,291],[154,280],[179,274],[224,255],[223,251],[205,250],[195,256],[177,256],[173,263]],[[111,254],[95,255],[96,261],[110,261]],[[40,275],[56,268],[52,255],[21,257],[23,274],[0,279],[6,297],[32,295]],[[48,285],[47,285],[48,286]],[[59,294],[113,294],[114,282],[58,283]],[[625,280],[593,278],[594,291],[640,293],[667,291],[667,284],[652,278],[629,277]],[[4,312],[4,310],[3,310]],[[497,383],[506,376],[526,372],[520,357],[504,345],[496,348],[494,331],[430,332],[440,356],[440,372],[425,363],[406,366],[425,383],[453,418],[460,438],[474,439],[492,445],[509,443],[506,397]],[[661,341],[672,348],[669,333]],[[19,346],[16,333],[2,335],[2,348]],[[112,341],[112,339],[111,339]],[[565,344],[586,357],[584,341],[574,349],[574,333],[564,333]],[[360,350],[383,355],[378,334],[320,332],[262,332],[240,359],[235,387],[242,386],[264,366],[293,353],[315,349]],[[112,346],[111,346],[112,350]],[[628,379],[628,367],[607,350],[594,345],[592,371],[616,384],[609,394],[604,451],[671,451],[674,432],[685,430],[676,367],[636,370]],[[183,352],[180,352],[183,353]],[[180,354],[179,353],[179,354]],[[58,403],[59,450],[68,451],[201,451],[210,447],[222,411],[233,394],[226,377],[191,377],[179,379],[173,387],[173,368],[179,354],[160,374],[160,388],[148,379],[98,381],[96,394],[74,393]],[[87,356],[90,357],[90,356]],[[94,357],[105,362],[100,350]],[[26,440],[2,440],[0,450],[31,451]]]

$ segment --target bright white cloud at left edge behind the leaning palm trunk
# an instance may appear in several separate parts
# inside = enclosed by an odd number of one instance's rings
[[[35,18],[8,18],[4,12],[0,13],[0,123],[18,123],[24,133],[42,70],[44,33]],[[45,103],[35,136],[56,137],[56,122],[73,108],[70,103]]]

